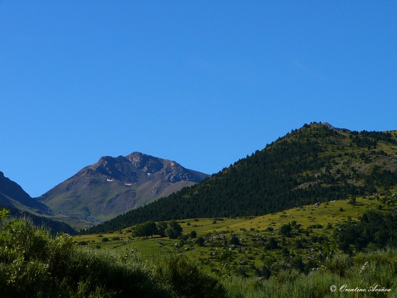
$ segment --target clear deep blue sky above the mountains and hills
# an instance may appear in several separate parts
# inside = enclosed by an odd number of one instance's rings
[[[0,171],[103,155],[214,173],[312,121],[397,129],[396,1],[0,0]]]

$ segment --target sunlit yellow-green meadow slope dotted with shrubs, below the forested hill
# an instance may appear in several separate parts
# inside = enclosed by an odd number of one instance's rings
[[[74,240],[98,249],[134,249],[146,259],[153,255],[177,252],[199,261],[203,268],[212,271],[233,273],[240,270],[245,275],[254,275],[255,270],[264,265],[277,270],[288,268],[289,262],[297,255],[307,261],[339,252],[333,236],[338,225],[358,221],[368,210],[390,212],[396,209],[396,204],[396,195],[390,193],[385,196],[358,197],[355,205],[349,200],[339,200],[322,203],[318,207],[302,206],[259,217],[179,221],[183,234],[189,235],[195,230],[197,237],[205,239],[204,246],[199,246],[196,239],[190,238],[171,240],[153,236],[137,239],[132,237],[131,228],[113,233],[78,235],[74,236]],[[280,233],[283,224],[294,225],[289,236]],[[239,238],[240,245],[230,244],[232,236]],[[103,242],[104,238],[109,241]],[[276,240],[279,248],[266,245],[270,238]]]

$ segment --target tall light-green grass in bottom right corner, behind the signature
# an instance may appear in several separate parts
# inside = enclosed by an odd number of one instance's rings
[[[361,253],[355,257],[335,255],[319,270],[303,274],[295,269],[274,273],[268,280],[232,277],[222,284],[230,298],[369,298],[397,297],[397,254],[395,250]],[[330,287],[336,287],[331,292]],[[366,292],[341,292],[366,289]],[[391,292],[370,292],[370,287],[391,289]]]

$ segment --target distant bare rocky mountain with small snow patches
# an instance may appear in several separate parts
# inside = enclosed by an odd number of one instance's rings
[[[102,156],[38,200],[89,226],[191,186],[210,175],[141,152]],[[76,224],[76,223],[75,223]]]

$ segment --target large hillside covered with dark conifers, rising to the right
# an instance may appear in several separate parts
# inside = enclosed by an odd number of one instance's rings
[[[148,220],[264,215],[386,193],[397,184],[396,140],[396,132],[305,124],[199,184],[88,231],[118,230]]]

